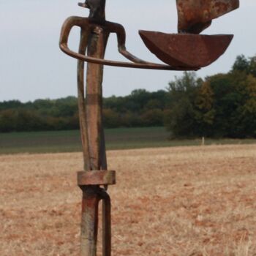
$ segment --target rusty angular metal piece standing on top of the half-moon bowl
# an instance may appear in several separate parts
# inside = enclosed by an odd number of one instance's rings
[[[239,7],[239,0],[176,0],[178,32],[200,34],[211,20]]]

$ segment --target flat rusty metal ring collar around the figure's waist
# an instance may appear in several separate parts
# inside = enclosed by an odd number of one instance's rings
[[[116,184],[116,171],[114,170],[93,170],[78,172],[78,186],[114,184]]]

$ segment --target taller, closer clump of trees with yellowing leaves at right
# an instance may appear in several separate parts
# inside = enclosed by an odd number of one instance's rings
[[[173,137],[256,138],[256,58],[238,56],[230,72],[193,72],[169,83],[165,125]]]

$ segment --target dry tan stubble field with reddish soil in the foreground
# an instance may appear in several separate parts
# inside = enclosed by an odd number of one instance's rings
[[[108,157],[113,255],[256,255],[255,145]],[[0,157],[1,256],[78,255],[81,167],[81,154]]]

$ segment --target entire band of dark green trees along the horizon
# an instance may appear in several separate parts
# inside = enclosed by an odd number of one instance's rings
[[[184,72],[167,90],[103,99],[106,128],[165,126],[174,138],[256,137],[256,58],[238,56],[230,72]],[[0,132],[79,129],[76,97],[0,102]]]

